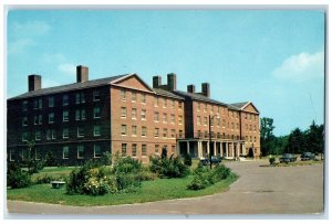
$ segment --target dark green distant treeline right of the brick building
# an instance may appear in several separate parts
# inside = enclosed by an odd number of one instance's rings
[[[263,117],[260,119],[260,148],[262,156],[282,153],[302,153],[310,151],[323,153],[324,151],[324,125],[315,125],[314,121],[307,130],[293,129],[289,135],[276,137],[273,135],[273,119]]]

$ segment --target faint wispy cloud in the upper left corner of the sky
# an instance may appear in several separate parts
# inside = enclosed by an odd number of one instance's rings
[[[14,22],[12,25],[12,32],[15,38],[41,36],[46,34],[50,30],[51,25],[44,21]]]

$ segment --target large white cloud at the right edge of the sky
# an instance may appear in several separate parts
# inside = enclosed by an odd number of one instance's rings
[[[295,82],[324,76],[324,52],[300,53],[286,58],[272,75],[277,78]]]

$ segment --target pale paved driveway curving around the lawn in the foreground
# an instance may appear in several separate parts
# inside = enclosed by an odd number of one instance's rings
[[[240,178],[228,192],[115,206],[66,206],[8,202],[10,213],[28,214],[318,214],[323,212],[323,166],[263,168],[267,161],[227,163]],[[89,216],[91,217],[91,216]]]

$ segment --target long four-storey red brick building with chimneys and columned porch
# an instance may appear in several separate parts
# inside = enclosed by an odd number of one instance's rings
[[[27,142],[37,158],[51,151],[59,164],[98,159],[120,151],[148,162],[149,154],[189,152],[205,157],[260,154],[259,113],[252,103],[227,105],[203,93],[176,88],[176,75],[153,77],[153,87],[136,74],[89,81],[76,67],[76,83],[42,88],[40,75],[28,77],[28,93],[8,99],[8,161],[27,159]],[[208,145],[208,117],[212,143]]]

